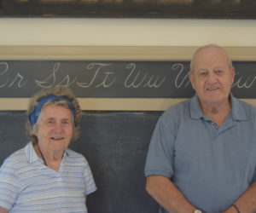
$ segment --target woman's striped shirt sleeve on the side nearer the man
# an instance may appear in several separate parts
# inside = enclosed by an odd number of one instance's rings
[[[90,165],[88,164],[87,160],[84,158],[84,196],[93,193],[96,191],[96,184],[94,178],[92,176]]]

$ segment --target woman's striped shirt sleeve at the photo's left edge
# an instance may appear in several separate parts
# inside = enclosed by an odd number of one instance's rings
[[[0,206],[10,210],[19,192],[15,169],[12,161],[7,158],[0,168]]]

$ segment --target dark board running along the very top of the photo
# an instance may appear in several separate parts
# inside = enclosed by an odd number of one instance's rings
[[[4,17],[255,19],[254,0],[0,0]]]

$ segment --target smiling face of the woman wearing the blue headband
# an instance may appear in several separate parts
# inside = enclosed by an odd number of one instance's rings
[[[38,118],[35,135],[49,152],[64,152],[73,137],[73,114],[61,105],[46,105]]]

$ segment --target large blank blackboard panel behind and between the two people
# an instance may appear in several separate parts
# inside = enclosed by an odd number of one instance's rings
[[[162,112],[83,112],[81,136],[71,147],[84,154],[96,180],[90,213],[155,213],[145,191],[143,167],[154,125]],[[26,113],[0,112],[0,164],[28,141]]]

